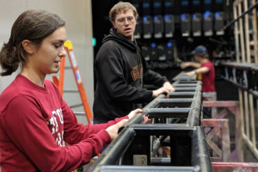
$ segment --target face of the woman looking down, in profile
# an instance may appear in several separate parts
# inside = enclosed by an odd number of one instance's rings
[[[30,64],[37,74],[44,76],[58,72],[61,58],[66,55],[65,41],[65,27],[58,28],[42,41],[39,49],[30,57]]]

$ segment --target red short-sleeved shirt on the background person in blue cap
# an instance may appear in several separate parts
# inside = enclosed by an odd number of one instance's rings
[[[202,74],[202,92],[216,92],[215,91],[215,68],[211,61],[203,63],[201,67],[207,67],[208,72]]]

